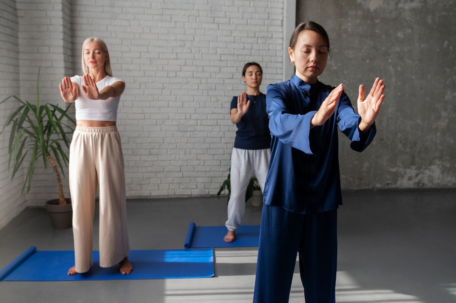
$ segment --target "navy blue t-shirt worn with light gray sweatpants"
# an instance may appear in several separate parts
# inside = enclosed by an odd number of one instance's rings
[[[269,132],[269,118],[266,112],[266,95],[247,95],[250,100],[249,109],[236,123],[238,131],[234,139],[234,147],[240,149],[265,149],[271,147],[271,134]],[[238,96],[231,101],[230,112],[238,108]]]

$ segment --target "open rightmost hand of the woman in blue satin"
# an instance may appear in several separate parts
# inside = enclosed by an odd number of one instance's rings
[[[358,114],[361,116],[361,122],[359,123],[359,128],[361,130],[370,127],[377,118],[378,111],[380,110],[383,98],[385,97],[385,95],[383,95],[384,89],[383,80],[380,80],[379,78],[375,79],[371,91],[364,100],[364,86],[359,86]]]

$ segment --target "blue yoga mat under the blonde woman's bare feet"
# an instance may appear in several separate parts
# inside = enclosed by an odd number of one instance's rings
[[[133,272],[123,275],[119,266],[99,267],[98,251],[87,273],[68,276],[74,251],[35,251],[32,246],[0,271],[1,281],[84,281],[208,278],[214,275],[212,248],[177,250],[132,250],[128,255]]]

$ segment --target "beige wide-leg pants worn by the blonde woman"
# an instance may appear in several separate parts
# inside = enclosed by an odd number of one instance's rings
[[[93,264],[93,215],[98,184],[100,266],[119,263],[130,253],[130,245],[124,156],[116,126],[76,126],[70,146],[69,183],[76,272],[85,273]]]

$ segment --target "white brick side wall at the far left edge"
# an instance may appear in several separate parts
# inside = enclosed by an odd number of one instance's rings
[[[19,21],[16,1],[0,0],[0,100],[19,94]],[[6,122],[15,102],[10,100],[0,105],[0,129]],[[11,181],[8,171],[8,143],[10,128],[0,136],[0,228],[16,217],[25,207],[26,198],[21,194],[24,181],[23,170]]]

